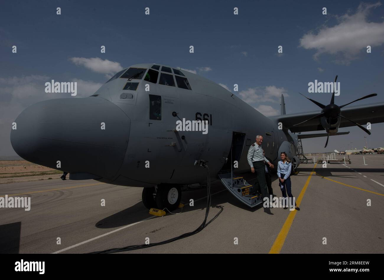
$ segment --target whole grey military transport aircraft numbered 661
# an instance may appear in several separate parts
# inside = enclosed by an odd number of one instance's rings
[[[339,135],[339,127],[354,125],[369,133],[356,122],[384,121],[384,102],[343,108],[352,102],[339,107],[334,94],[326,106],[311,101],[322,110],[286,115],[281,96],[281,115],[267,118],[204,77],[167,65],[136,64],[90,97],[29,106],[15,120],[11,142],[20,157],[68,172],[71,180],[144,187],[147,208],[169,211],[179,205],[181,186],[207,182],[205,169],[194,165],[206,160],[212,178],[219,176],[233,195],[253,207],[260,198],[249,195],[250,185],[233,174],[249,172],[247,152],[257,134],[263,135],[263,149],[275,165],[286,152],[297,168],[294,133],[325,129],[329,137]],[[176,121],[183,120],[207,121],[208,133],[178,131]]]

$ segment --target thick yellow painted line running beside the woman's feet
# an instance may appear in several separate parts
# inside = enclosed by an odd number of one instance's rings
[[[313,169],[311,171],[311,174],[308,176],[308,179],[305,182],[305,185],[304,185],[303,189],[301,190],[298,199],[296,200],[297,206],[300,206],[301,200],[303,199],[305,191],[307,190],[307,187],[308,187],[308,185],[309,185],[309,183],[311,181],[312,175],[316,174],[316,172],[314,172],[314,169],[316,168],[316,165],[317,164],[314,165],[314,167],[313,167]],[[273,245],[272,245],[272,247],[271,247],[271,249],[269,251],[269,254],[280,254],[281,248],[283,247],[283,244],[285,242],[285,238],[287,237],[288,232],[289,232],[289,230],[291,228],[293,219],[295,219],[296,213],[297,213],[297,210],[290,211],[288,217],[285,220],[285,223],[283,224],[283,227],[280,230],[280,233],[276,237],[275,242],[273,242]]]

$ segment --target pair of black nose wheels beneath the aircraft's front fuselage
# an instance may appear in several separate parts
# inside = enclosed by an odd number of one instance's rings
[[[165,209],[173,211],[179,206],[181,200],[181,188],[179,185],[158,185],[156,188],[144,188],[142,201],[146,208]]]

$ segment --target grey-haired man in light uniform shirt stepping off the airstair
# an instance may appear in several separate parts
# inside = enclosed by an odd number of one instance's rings
[[[249,147],[248,151],[248,164],[251,167],[251,172],[257,176],[257,181],[260,185],[262,196],[268,197],[268,187],[265,181],[265,163],[271,166],[271,163],[265,156],[263,156],[263,136],[257,135],[256,142]],[[252,188],[252,195],[256,195],[257,186]],[[271,201],[270,201],[271,202]]]

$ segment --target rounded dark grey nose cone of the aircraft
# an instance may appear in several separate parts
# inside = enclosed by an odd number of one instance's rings
[[[15,122],[11,143],[20,157],[70,174],[112,179],[127,149],[129,118],[99,97],[39,102]]]

